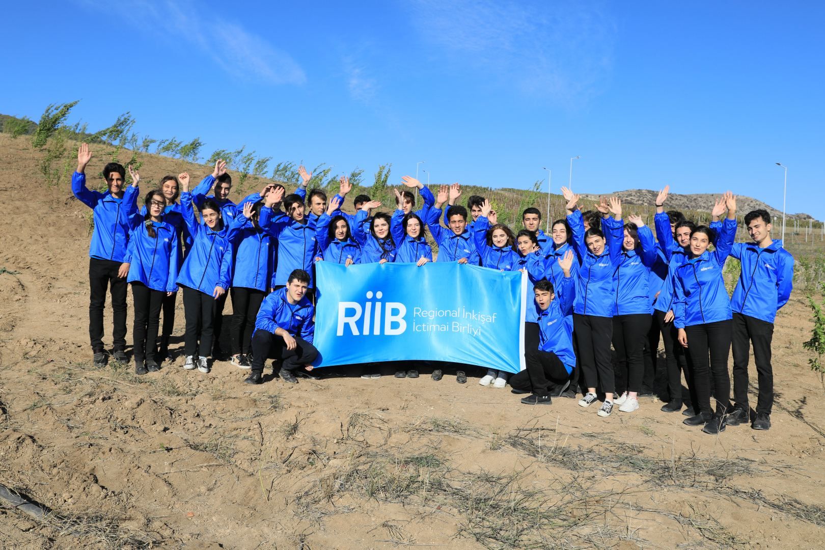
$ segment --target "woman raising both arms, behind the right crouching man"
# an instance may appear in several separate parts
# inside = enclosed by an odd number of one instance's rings
[[[610,416],[613,411],[615,378],[610,340],[613,336],[613,272],[621,261],[622,222],[621,201],[610,198],[613,218],[602,220],[602,227],[584,231],[582,212],[576,209],[578,195],[566,187],[562,194],[568,201],[567,220],[573,232],[573,247],[578,261],[576,298],[573,303],[573,327],[575,329],[579,361],[582,366],[587,393],[579,400],[581,407],[590,407],[596,401],[596,388],[605,393],[605,401],[599,416]]]

